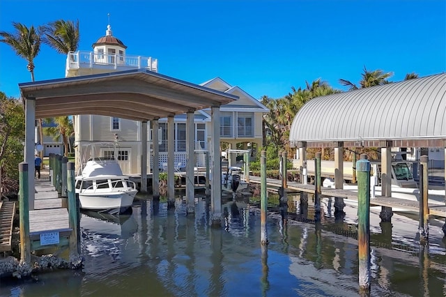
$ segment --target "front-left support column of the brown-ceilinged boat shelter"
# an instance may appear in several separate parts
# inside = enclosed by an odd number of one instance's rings
[[[28,186],[29,186],[29,211],[34,210],[34,198],[36,197],[34,181],[35,172],[32,169],[34,164],[34,154],[36,150],[36,98],[26,97],[25,99],[25,147],[24,162],[28,163]]]

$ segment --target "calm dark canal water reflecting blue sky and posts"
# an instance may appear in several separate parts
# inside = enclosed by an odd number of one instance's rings
[[[358,296],[352,205],[335,220],[333,201],[324,199],[321,228],[302,216],[284,226],[270,213],[270,244],[262,249],[254,205],[225,204],[229,216],[218,229],[209,227],[205,200],[198,199],[192,218],[183,199],[168,211],[139,198],[131,215],[82,214],[81,271],[40,274],[38,282],[2,280],[0,296]],[[311,198],[309,204],[311,219]],[[290,217],[300,213],[297,197],[289,205]],[[395,214],[392,224],[380,225],[372,211],[371,296],[446,295],[442,224],[432,222],[423,249],[415,220]]]

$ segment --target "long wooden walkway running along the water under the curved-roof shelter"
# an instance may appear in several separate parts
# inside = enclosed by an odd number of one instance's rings
[[[260,176],[249,176],[249,183],[261,183]],[[304,185],[294,181],[287,181],[288,192],[314,193],[314,185]],[[282,181],[275,178],[266,178],[266,186],[271,190],[277,190],[282,186]],[[353,190],[341,190],[321,187],[321,194],[325,197],[341,197],[357,201],[357,192]],[[420,202],[395,197],[376,196],[370,199],[371,206],[387,206],[403,208],[408,211],[420,211]],[[446,218],[446,205],[429,204],[429,215]]]

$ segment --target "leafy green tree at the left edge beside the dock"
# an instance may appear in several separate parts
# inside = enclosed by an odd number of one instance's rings
[[[23,160],[24,122],[22,102],[0,91],[0,188],[6,195],[17,194],[19,189],[18,165]],[[33,165],[29,169],[33,170]]]

